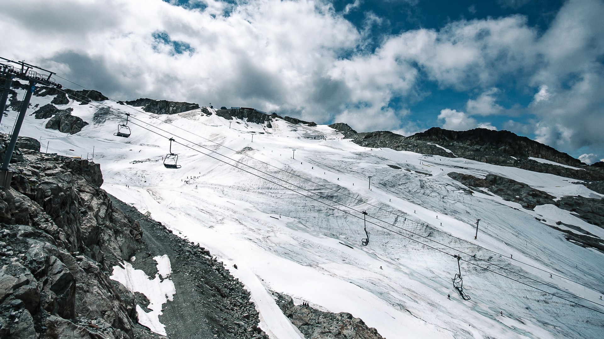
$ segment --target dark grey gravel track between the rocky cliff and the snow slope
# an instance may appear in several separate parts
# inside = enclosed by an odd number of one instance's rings
[[[168,337],[177,338],[268,338],[257,328],[258,312],[249,301],[248,291],[228,270],[211,258],[210,252],[185,241],[161,223],[111,196],[112,203],[143,229],[144,248],[135,253],[134,268],[149,276],[157,273],[155,256],[168,255],[176,294],[163,305],[159,321]],[[145,309],[143,296],[137,303]],[[139,331],[140,335],[144,335]],[[149,338],[156,337],[149,333]],[[137,335],[138,337],[138,335]]]

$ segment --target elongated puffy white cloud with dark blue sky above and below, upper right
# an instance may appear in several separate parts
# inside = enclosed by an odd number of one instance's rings
[[[407,31],[389,39],[400,55],[419,63],[432,80],[456,90],[488,89],[503,76],[525,77],[538,62],[537,33],[524,16],[455,21],[440,31]]]

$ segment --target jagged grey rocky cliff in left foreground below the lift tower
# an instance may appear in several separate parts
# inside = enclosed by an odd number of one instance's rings
[[[2,338],[132,338],[134,306],[106,272],[141,246],[138,223],[98,188],[97,164],[19,152],[0,188]]]

